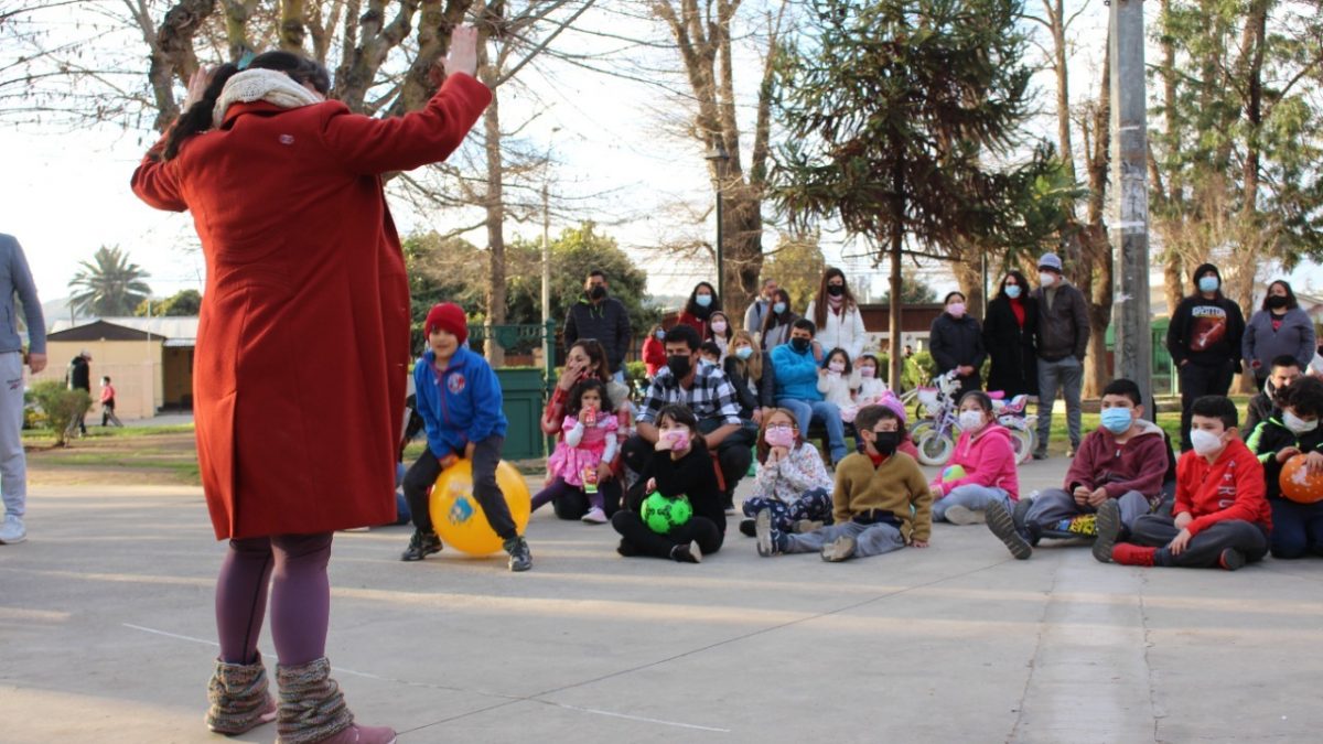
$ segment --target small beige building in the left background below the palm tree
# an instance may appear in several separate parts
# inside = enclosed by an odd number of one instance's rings
[[[65,380],[73,357],[87,351],[93,401],[101,398],[101,379],[110,376],[122,420],[192,410],[196,344],[196,316],[56,320],[46,332],[49,363],[32,381]]]

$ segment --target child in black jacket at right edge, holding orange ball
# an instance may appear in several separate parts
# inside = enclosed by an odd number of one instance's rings
[[[1323,471],[1323,380],[1303,377],[1283,388],[1281,409],[1261,421],[1245,442],[1263,465],[1267,503],[1273,510],[1273,557],[1323,556],[1323,502],[1311,504],[1282,496],[1282,466],[1303,454],[1311,473]]]

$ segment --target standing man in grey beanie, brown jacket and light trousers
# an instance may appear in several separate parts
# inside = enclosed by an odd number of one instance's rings
[[[1089,348],[1089,311],[1084,294],[1061,275],[1061,258],[1044,253],[1039,259],[1039,449],[1033,459],[1048,457],[1052,406],[1057,389],[1066,398],[1066,433],[1074,457],[1080,449],[1080,389],[1084,387],[1084,355]]]

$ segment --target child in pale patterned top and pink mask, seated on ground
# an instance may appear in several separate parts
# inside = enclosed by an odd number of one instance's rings
[[[795,414],[771,408],[758,434],[758,477],[753,494],[744,500],[745,519],[740,531],[754,535],[754,520],[763,512],[771,528],[781,532],[807,532],[831,522],[831,475],[795,425]]]

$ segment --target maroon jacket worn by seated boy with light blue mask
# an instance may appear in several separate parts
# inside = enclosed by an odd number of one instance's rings
[[[1140,432],[1118,445],[1117,437],[1102,426],[1084,438],[1062,487],[1068,494],[1084,486],[1090,491],[1106,488],[1115,499],[1139,491],[1150,500],[1162,495],[1167,477],[1168,449],[1163,430],[1151,421],[1139,421]]]

